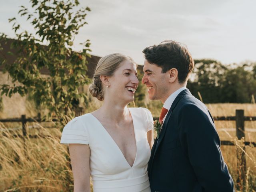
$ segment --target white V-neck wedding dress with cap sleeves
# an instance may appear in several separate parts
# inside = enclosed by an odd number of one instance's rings
[[[76,117],[64,127],[63,144],[89,144],[90,175],[94,192],[150,192],[147,164],[150,146],[147,132],[153,118],[146,108],[128,108],[136,140],[136,157],[132,167],[99,120],[92,114]]]

